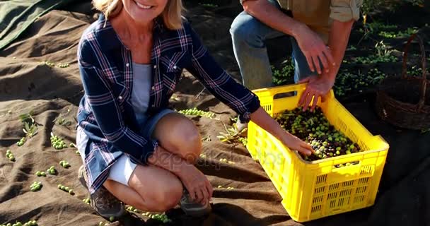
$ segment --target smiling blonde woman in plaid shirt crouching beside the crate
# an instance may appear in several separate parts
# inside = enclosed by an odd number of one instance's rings
[[[182,69],[219,100],[301,153],[309,145],[269,117],[250,90],[228,76],[182,19],[180,0],[94,0],[102,11],[79,42],[85,95],[76,142],[79,179],[103,217],[120,217],[122,203],[188,215],[210,210],[212,187],[195,166],[202,149],[193,122],[168,108]],[[121,202],[122,203],[121,203]]]

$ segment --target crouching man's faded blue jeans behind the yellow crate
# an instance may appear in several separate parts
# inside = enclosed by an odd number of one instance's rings
[[[277,1],[268,1],[277,8],[281,8]],[[230,33],[233,39],[233,51],[242,74],[243,85],[250,90],[274,86],[265,40],[286,35],[270,28],[245,11],[233,20]],[[306,57],[301,52],[294,37],[290,37],[290,39],[293,50],[292,59],[295,65],[295,83],[308,76],[317,75],[316,72],[310,71],[308,61],[306,61]]]

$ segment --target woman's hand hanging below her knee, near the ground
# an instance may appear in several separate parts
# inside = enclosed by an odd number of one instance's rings
[[[204,203],[211,199],[212,185],[207,177],[194,165],[183,165],[177,175],[185,185],[192,201],[204,205]]]

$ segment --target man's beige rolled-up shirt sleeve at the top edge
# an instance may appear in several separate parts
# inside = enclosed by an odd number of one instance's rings
[[[340,22],[359,20],[362,4],[363,0],[331,0],[330,18]]]

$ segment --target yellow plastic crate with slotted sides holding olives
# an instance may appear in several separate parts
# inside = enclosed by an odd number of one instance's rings
[[[296,108],[305,89],[306,84],[298,84],[253,92],[266,112],[274,117],[286,109]],[[291,92],[297,95],[277,98]],[[248,125],[250,154],[265,169],[283,199],[282,205],[297,222],[373,206],[389,148],[381,136],[373,136],[335,99],[332,90],[327,100],[318,101],[317,105],[330,124],[364,151],[306,162],[252,121]],[[354,165],[335,167],[348,162]]]

